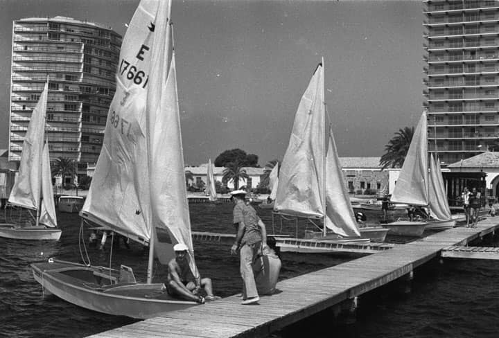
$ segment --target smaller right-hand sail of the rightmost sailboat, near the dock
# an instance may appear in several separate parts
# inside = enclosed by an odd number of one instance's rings
[[[452,215],[450,214],[444,179],[441,175],[440,164],[435,161],[433,154],[430,157],[428,195],[430,216],[437,220],[450,220]]]

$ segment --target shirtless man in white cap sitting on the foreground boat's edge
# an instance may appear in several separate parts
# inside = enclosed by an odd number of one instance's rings
[[[203,304],[205,299],[207,301],[220,299],[218,296],[213,296],[210,278],[201,278],[201,276],[195,278],[193,276],[191,267],[189,267],[189,258],[187,257],[188,249],[182,243],[175,244],[173,247],[175,258],[168,263],[168,280],[166,283],[168,294],[200,304]],[[201,287],[206,292],[206,297],[200,295]]]

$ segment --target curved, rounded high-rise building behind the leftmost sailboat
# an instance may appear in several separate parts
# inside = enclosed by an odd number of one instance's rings
[[[121,35],[69,17],[13,22],[9,159],[19,161],[33,108],[49,78],[46,137],[51,160],[78,171],[95,163],[116,82]]]

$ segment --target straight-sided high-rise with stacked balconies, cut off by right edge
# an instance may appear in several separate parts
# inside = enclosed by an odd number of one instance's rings
[[[444,163],[498,151],[499,1],[423,3],[429,151]]]

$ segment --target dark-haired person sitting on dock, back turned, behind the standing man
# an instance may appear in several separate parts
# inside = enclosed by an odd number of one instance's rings
[[[253,274],[255,276],[256,290],[258,293],[274,294],[276,292],[279,272],[281,272],[281,251],[277,247],[275,238],[267,238],[268,248],[264,249],[262,255],[253,263]]]

